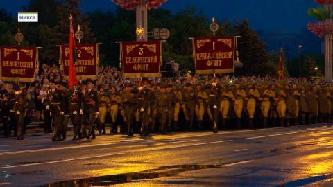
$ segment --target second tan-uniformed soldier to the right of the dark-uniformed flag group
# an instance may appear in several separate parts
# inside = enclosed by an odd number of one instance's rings
[[[116,91],[116,87],[110,88],[110,103],[108,103],[110,116],[111,116],[111,133],[117,134],[117,116],[118,116],[118,108],[121,103],[121,97],[119,93]]]

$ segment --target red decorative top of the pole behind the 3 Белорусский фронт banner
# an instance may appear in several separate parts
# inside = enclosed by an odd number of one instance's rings
[[[139,3],[142,2],[147,4],[148,9],[159,8],[167,0],[112,0],[112,1],[121,8],[124,8],[126,10],[133,10],[137,7]]]

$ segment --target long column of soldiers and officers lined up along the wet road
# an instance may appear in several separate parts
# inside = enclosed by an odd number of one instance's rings
[[[66,139],[67,124],[73,125],[73,140],[95,139],[100,134],[120,132],[133,136],[178,130],[283,127],[332,121],[330,84],[309,82],[185,82],[111,85],[95,89],[95,83],[67,89],[52,81],[44,113],[53,123],[52,141]],[[15,94],[1,95],[1,119],[9,136],[15,121],[17,139],[23,139],[28,92],[20,84]],[[47,127],[49,129],[49,127]]]

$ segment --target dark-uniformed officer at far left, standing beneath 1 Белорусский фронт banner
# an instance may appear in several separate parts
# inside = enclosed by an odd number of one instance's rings
[[[26,91],[26,84],[23,82],[19,83],[19,91],[15,92],[15,104],[12,109],[16,119],[16,132],[17,139],[23,140],[23,125],[24,118],[26,117],[26,112],[28,110],[28,91]]]

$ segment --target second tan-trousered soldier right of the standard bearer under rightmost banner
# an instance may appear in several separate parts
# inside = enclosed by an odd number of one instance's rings
[[[237,82],[235,84],[234,91],[234,113],[237,118],[237,128],[241,128],[241,113],[243,112],[244,107],[244,98],[246,97],[246,92],[241,88],[241,84]]]

